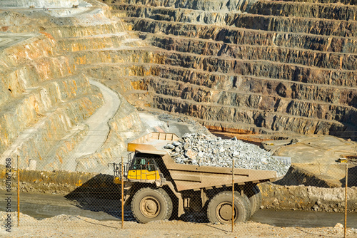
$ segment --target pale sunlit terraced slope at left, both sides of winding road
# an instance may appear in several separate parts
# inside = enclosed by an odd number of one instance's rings
[[[74,161],[72,171],[105,172],[107,163],[126,151],[122,132],[136,136],[143,130],[122,95],[118,111],[106,122],[110,131],[101,148],[86,157],[70,155],[90,131],[86,120],[104,105],[101,90],[89,80],[103,79],[95,72],[111,61],[109,54],[122,62],[114,48],[136,41],[98,1],[32,1],[55,7],[49,11],[21,9],[23,3],[0,3],[6,8],[0,11],[0,163],[13,157],[16,166],[19,155],[21,168],[31,160],[32,169],[61,170]],[[72,4],[78,9],[66,9]],[[84,7],[89,4],[93,7]],[[114,90],[123,92],[119,86]]]

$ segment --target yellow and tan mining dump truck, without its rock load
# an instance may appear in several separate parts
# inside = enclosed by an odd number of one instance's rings
[[[128,143],[129,162],[112,164],[114,182],[124,182],[124,202],[141,223],[188,211],[206,212],[212,223],[231,222],[232,168],[176,163],[164,145],[179,139],[172,133],[149,133]],[[235,168],[234,221],[246,221],[261,206],[259,182],[277,179],[275,171]]]

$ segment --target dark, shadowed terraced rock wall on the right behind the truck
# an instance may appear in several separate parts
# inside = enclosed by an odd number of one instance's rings
[[[355,1],[112,2],[151,44],[116,70],[150,94],[146,106],[219,128],[356,139]]]

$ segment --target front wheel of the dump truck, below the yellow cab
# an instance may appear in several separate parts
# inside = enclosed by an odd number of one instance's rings
[[[136,220],[141,223],[169,219],[172,213],[172,201],[162,188],[154,190],[144,187],[133,196],[131,211]]]

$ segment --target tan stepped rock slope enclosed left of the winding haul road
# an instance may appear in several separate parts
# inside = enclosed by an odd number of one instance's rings
[[[24,167],[34,155],[40,161],[71,148],[85,133],[81,123],[103,103],[73,59],[57,55],[54,46],[53,38],[36,34],[0,53],[0,152],[26,157]]]

